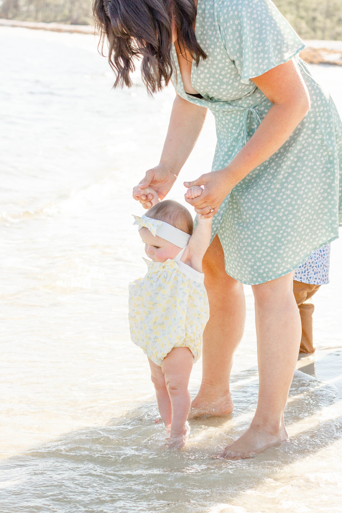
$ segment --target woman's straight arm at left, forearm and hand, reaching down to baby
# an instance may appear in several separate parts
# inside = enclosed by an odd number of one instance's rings
[[[207,109],[194,105],[176,95],[170,116],[170,123],[159,164],[149,169],[138,187],[133,189],[133,198],[144,208],[150,208],[151,197],[137,189],[151,186],[162,200],[171,189],[180,169],[190,155],[202,130]]]

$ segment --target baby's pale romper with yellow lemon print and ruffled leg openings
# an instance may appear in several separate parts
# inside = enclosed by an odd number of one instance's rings
[[[180,262],[183,251],[163,263],[144,259],[147,273],[129,285],[132,342],[159,366],[174,347],[189,347],[197,362],[209,319],[204,274]]]

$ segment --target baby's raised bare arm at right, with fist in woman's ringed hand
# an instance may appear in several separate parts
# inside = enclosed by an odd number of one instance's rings
[[[202,187],[194,186],[187,190],[186,196],[194,199],[202,192]],[[183,257],[180,259],[199,272],[202,272],[202,260],[210,244],[211,223],[212,218],[202,219],[200,214],[197,214],[197,226],[190,237],[187,251],[183,254],[184,260]]]

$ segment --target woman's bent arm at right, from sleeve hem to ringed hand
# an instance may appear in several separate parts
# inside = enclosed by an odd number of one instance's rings
[[[187,199],[187,202],[208,218],[217,212],[236,184],[283,146],[310,109],[308,89],[293,60],[252,80],[273,105],[227,167],[194,181],[195,185],[205,185],[205,191],[200,198]],[[190,184],[185,182],[184,185],[189,187]],[[213,207],[213,212],[209,212],[208,205]]]

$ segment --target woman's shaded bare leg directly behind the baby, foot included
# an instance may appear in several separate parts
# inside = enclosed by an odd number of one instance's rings
[[[233,356],[245,328],[242,283],[225,270],[225,255],[216,235],[203,259],[210,318],[203,333],[202,384],[192,401],[190,417],[229,415],[233,411],[229,377]]]

